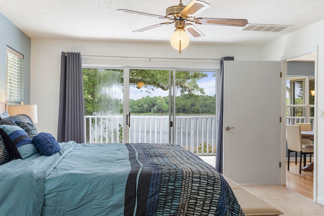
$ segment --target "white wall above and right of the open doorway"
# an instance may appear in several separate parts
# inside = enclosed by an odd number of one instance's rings
[[[315,157],[317,158],[318,203],[324,205],[324,118],[319,117],[319,111],[324,110],[324,20],[307,26],[301,30],[276,39],[261,47],[261,60],[280,60],[293,57],[302,53],[318,50],[317,66],[315,65],[316,87],[315,87]],[[317,74],[316,74],[317,73]],[[315,186],[315,185],[314,185]]]

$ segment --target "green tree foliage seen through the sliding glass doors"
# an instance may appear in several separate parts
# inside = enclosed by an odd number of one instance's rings
[[[101,96],[96,94],[96,77],[105,74],[107,71],[116,71],[120,74],[119,88],[123,87],[123,70],[105,69],[83,69],[85,115],[96,115],[99,111]],[[215,73],[216,74],[216,73]],[[215,75],[213,74],[213,75]],[[207,77],[204,72],[178,71],[176,74],[176,88],[181,96],[176,97],[176,112],[185,114],[215,114],[215,96],[205,96],[203,88],[200,88],[197,81]],[[156,89],[169,89],[169,70],[130,70],[130,85],[137,86],[142,81],[145,83],[145,91],[150,92]],[[98,92],[98,91],[97,91]],[[116,99],[113,101],[123,113],[123,103]],[[139,100],[130,100],[130,110],[133,113],[167,113],[169,109],[168,97],[145,97]]]

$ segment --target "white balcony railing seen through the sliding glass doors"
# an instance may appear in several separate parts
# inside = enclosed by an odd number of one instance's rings
[[[174,143],[197,155],[215,155],[215,122],[215,116],[176,116]],[[169,116],[131,115],[130,124],[131,143],[169,143]],[[122,125],[123,115],[85,116],[85,141],[121,143]]]

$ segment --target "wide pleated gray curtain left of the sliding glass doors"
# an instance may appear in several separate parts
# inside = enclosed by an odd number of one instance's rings
[[[58,142],[85,142],[84,113],[81,54],[62,52]]]

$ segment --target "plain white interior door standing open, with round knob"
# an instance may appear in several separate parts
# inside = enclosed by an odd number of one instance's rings
[[[236,183],[280,184],[280,89],[280,62],[225,61],[223,174]]]

